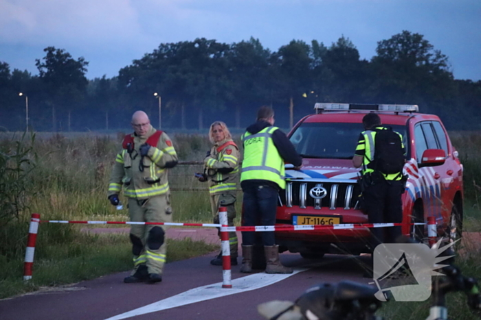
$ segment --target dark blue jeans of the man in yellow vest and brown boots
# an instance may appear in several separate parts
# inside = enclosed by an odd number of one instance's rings
[[[271,186],[254,186],[245,188],[243,206],[243,225],[274,225],[278,190]],[[254,245],[255,232],[242,232],[242,244]],[[274,232],[260,232],[264,245],[275,245]]]

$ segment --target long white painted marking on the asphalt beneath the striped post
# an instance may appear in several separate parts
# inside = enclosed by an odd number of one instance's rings
[[[246,277],[232,280],[232,288],[222,288],[222,282],[216,284],[208,284],[207,286],[199,286],[198,288],[190,289],[186,292],[168,297],[167,299],[148,304],[142,308],[131,310],[121,315],[116,315],[106,320],[120,320],[145,315],[146,313],[157,312],[186,304],[194,304],[195,302],[215,299],[218,297],[225,297],[227,295],[235,295],[236,293],[243,293],[246,291],[256,290],[265,286],[269,286],[276,282],[289,278],[291,275],[306,271],[309,268],[295,268],[291,274],[267,274],[254,273]]]

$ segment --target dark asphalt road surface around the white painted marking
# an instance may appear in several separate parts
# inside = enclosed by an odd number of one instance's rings
[[[91,230],[91,232],[96,231]],[[117,232],[122,232],[122,230]],[[172,228],[169,230],[168,236],[173,238],[189,236],[196,240],[219,243],[216,230],[212,229],[194,231]],[[481,237],[479,240],[481,241]],[[479,244],[478,241],[475,243]],[[49,288],[47,291],[3,299],[0,300],[0,319],[109,319],[122,315],[124,312],[185,293],[192,288],[210,284],[220,287],[223,275],[222,267],[214,267],[209,263],[214,256],[216,256],[216,252],[168,263],[164,269],[164,280],[157,284],[124,284],[122,280],[128,273],[123,272],[63,288]],[[293,301],[306,288],[320,282],[353,280],[368,284],[372,281],[362,278],[363,269],[359,264],[359,262],[367,262],[368,256],[326,255],[321,260],[306,260],[298,254],[281,254],[281,260],[290,267],[304,268],[306,271],[256,290],[216,297],[126,319],[263,319],[256,310],[258,304],[262,302],[274,299]],[[239,264],[232,267],[233,284],[234,280],[248,276],[239,272],[240,258],[238,261]],[[230,290],[232,289],[221,289],[225,292]],[[206,294],[207,291],[205,289]]]

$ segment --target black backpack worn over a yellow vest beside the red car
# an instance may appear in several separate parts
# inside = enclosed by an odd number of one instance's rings
[[[386,175],[403,171],[405,156],[401,137],[392,131],[392,127],[383,130],[374,129],[374,160],[372,169]]]

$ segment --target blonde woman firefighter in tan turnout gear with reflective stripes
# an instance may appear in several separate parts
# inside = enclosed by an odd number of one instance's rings
[[[204,159],[204,173],[199,177],[199,181],[209,182],[210,206],[214,223],[219,223],[219,207],[223,206],[227,208],[228,225],[233,226],[236,217],[234,205],[237,197],[240,153],[227,125],[222,121],[215,121],[210,125],[209,139],[214,146],[207,152]],[[231,264],[235,266],[238,256],[236,232],[229,232],[229,243]],[[210,261],[210,264],[222,265],[222,250]]]

